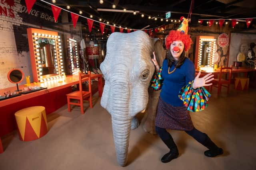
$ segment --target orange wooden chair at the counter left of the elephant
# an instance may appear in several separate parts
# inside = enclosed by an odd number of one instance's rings
[[[89,91],[82,90],[82,82],[87,82],[89,84]],[[90,71],[88,71],[88,74],[82,74],[79,73],[79,90],[76,90],[74,92],[71,92],[67,94],[68,99],[68,111],[71,111],[70,105],[77,105],[81,107],[81,113],[84,114],[84,106],[83,106],[83,100],[89,100],[90,102],[90,108],[92,108],[92,89],[91,89],[91,74]],[[77,103],[70,102],[70,99],[76,99]]]

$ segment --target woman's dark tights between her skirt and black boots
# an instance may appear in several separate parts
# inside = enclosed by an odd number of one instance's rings
[[[208,137],[205,133],[198,131],[196,128],[193,128],[191,131],[185,131],[185,132],[188,133],[188,135],[192,136],[194,139],[196,139],[196,141],[198,141],[202,145],[205,144],[205,141]],[[168,133],[164,128],[156,126],[156,133],[162,139],[162,141],[172,139],[172,136],[170,135],[170,133]]]

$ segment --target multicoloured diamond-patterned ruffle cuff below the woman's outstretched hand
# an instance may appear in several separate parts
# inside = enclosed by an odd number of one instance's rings
[[[193,81],[182,87],[179,92],[179,98],[189,111],[202,111],[208,107],[208,100],[211,94],[204,87],[194,90],[192,84]]]

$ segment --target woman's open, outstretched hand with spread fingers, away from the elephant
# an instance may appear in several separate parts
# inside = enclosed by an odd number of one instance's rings
[[[213,74],[209,73],[206,74],[205,76],[203,76],[202,78],[199,78],[201,72],[198,72],[196,78],[194,79],[194,82],[192,84],[192,88],[196,89],[202,86],[211,86],[212,83],[206,84],[208,82],[211,82],[214,78],[213,78]]]

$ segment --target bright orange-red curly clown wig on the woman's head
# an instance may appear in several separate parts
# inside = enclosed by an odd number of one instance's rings
[[[190,38],[190,35],[184,34],[184,32],[181,31],[170,31],[169,35],[166,37],[166,49],[170,48],[170,45],[173,41],[180,40],[184,44],[185,51],[188,51],[190,49],[190,45],[192,43],[192,40]]]

